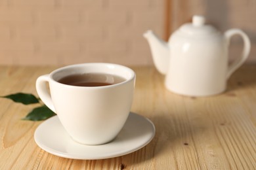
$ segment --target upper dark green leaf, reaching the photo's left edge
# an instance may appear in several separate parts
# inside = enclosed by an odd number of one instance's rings
[[[12,101],[14,101],[16,103],[22,103],[24,105],[39,103],[39,99],[37,99],[37,97],[35,97],[35,95],[30,94],[30,93],[14,93],[14,94],[5,95],[2,97],[11,99]]]

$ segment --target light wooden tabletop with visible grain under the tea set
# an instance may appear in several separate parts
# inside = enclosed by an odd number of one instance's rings
[[[41,122],[20,120],[35,105],[0,98],[0,169],[256,169],[256,65],[245,65],[212,97],[168,92],[154,67],[132,67],[137,84],[132,112],[156,126],[144,148],[106,160],[71,160],[41,150]],[[56,67],[0,66],[0,95],[35,92],[37,76]]]

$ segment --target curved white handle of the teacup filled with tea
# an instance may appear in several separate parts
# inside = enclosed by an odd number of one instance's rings
[[[35,88],[43,103],[45,103],[45,105],[47,105],[49,109],[53,110],[53,112],[56,113],[55,107],[53,105],[53,100],[46,86],[46,83],[49,83],[49,80],[49,75],[39,76],[35,82]]]

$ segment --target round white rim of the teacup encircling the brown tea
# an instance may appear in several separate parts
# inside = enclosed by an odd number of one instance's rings
[[[108,67],[119,67],[121,69],[125,69],[127,72],[129,72],[131,74],[131,76],[129,78],[125,78],[125,80],[123,82],[119,82],[116,84],[111,84],[108,86],[74,86],[74,85],[70,85],[70,84],[63,84],[58,82],[57,80],[54,80],[53,76],[56,73],[59,73],[60,71],[63,71],[65,69],[70,69],[72,67],[81,67],[81,66],[89,66],[89,65],[104,65],[104,66],[108,66]],[[72,74],[70,74],[72,75]],[[92,88],[92,89],[96,89],[96,88],[114,88],[115,86],[120,86],[121,84],[126,84],[127,82],[131,82],[135,79],[136,74],[135,71],[133,71],[133,69],[130,69],[129,67],[126,67],[124,65],[119,65],[116,63],[77,63],[77,64],[72,64],[72,65],[66,65],[64,67],[60,67],[58,69],[55,69],[54,71],[52,71],[49,74],[49,79],[51,82],[54,82],[56,84],[60,84],[62,86],[68,87],[68,88]]]

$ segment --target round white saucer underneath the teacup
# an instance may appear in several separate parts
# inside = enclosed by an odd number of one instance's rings
[[[40,148],[56,156],[100,160],[139,150],[150,143],[155,131],[154,124],[148,118],[131,112],[116,139],[110,143],[90,146],[75,143],[60,124],[58,116],[53,116],[37,127],[34,138]]]

